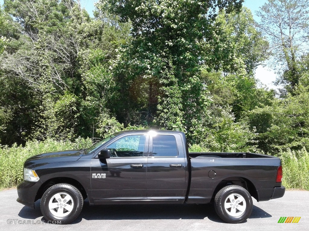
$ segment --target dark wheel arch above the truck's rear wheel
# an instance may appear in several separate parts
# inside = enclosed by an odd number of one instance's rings
[[[259,195],[252,181],[248,180],[247,178],[240,177],[240,176],[231,176],[231,177],[227,177],[221,180],[214,190],[214,193],[212,195],[212,200],[214,200],[214,197],[216,196],[216,194],[219,192],[221,188],[224,188],[225,186],[232,185],[232,184],[245,188],[253,198],[259,201],[259,198],[258,198]]]

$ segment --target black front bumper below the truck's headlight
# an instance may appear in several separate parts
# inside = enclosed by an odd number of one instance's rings
[[[34,209],[36,193],[40,188],[39,182],[40,181],[38,182],[23,181],[19,185],[17,185],[18,198],[16,201]]]

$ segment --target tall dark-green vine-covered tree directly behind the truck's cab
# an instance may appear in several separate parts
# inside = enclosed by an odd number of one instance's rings
[[[217,8],[231,12],[242,2],[101,1],[101,7],[107,7],[121,22],[132,23],[132,40],[119,49],[121,55],[112,65],[123,96],[117,114],[142,108],[163,128],[198,130],[209,104],[200,79],[201,44],[212,39],[210,28]],[[145,92],[148,100],[135,103],[134,83],[149,86]]]

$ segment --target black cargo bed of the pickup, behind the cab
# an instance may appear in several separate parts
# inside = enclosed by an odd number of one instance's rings
[[[230,159],[226,159],[230,158]],[[243,184],[257,201],[272,197],[281,160],[250,152],[189,152],[191,185],[188,202],[208,203],[214,197],[218,182]],[[253,186],[254,185],[254,186]]]

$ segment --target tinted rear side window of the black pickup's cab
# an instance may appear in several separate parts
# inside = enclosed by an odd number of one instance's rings
[[[176,138],[172,135],[152,137],[152,156],[178,156]]]

